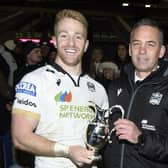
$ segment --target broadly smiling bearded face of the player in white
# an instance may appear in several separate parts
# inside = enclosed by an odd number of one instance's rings
[[[81,66],[81,60],[88,47],[87,31],[84,25],[72,18],[59,21],[56,30],[56,62],[62,67]]]

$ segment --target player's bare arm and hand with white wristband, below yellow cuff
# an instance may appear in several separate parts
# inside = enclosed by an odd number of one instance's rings
[[[12,136],[16,148],[41,156],[68,157],[78,166],[92,162],[88,157],[93,156],[93,151],[81,146],[61,145],[39,136],[33,132],[37,125],[36,119],[23,114],[12,115]],[[60,145],[63,148],[60,149]]]

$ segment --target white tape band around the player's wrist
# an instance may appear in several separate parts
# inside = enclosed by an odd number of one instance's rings
[[[55,143],[54,145],[54,153],[57,157],[68,157],[69,155],[69,146],[63,145],[60,143]]]

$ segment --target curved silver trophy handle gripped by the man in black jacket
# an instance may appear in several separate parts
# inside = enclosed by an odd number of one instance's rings
[[[124,108],[121,106],[121,105],[114,105],[112,107],[109,108],[109,114],[113,114],[114,112],[112,111],[114,108],[118,108],[121,112],[121,118],[123,119],[124,118],[124,114],[125,114],[125,110]],[[115,132],[115,127],[111,129],[111,131],[109,132],[108,136],[107,136],[107,140],[109,143],[112,143],[112,140],[111,140],[111,135],[113,134],[113,132]]]

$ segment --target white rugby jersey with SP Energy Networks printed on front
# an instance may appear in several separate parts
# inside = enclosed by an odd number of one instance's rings
[[[13,113],[36,119],[36,133],[66,145],[85,146],[86,126],[95,116],[89,101],[108,108],[105,89],[88,75],[75,82],[58,65],[46,65],[23,77],[16,86]],[[36,168],[76,168],[70,159],[36,156]]]

